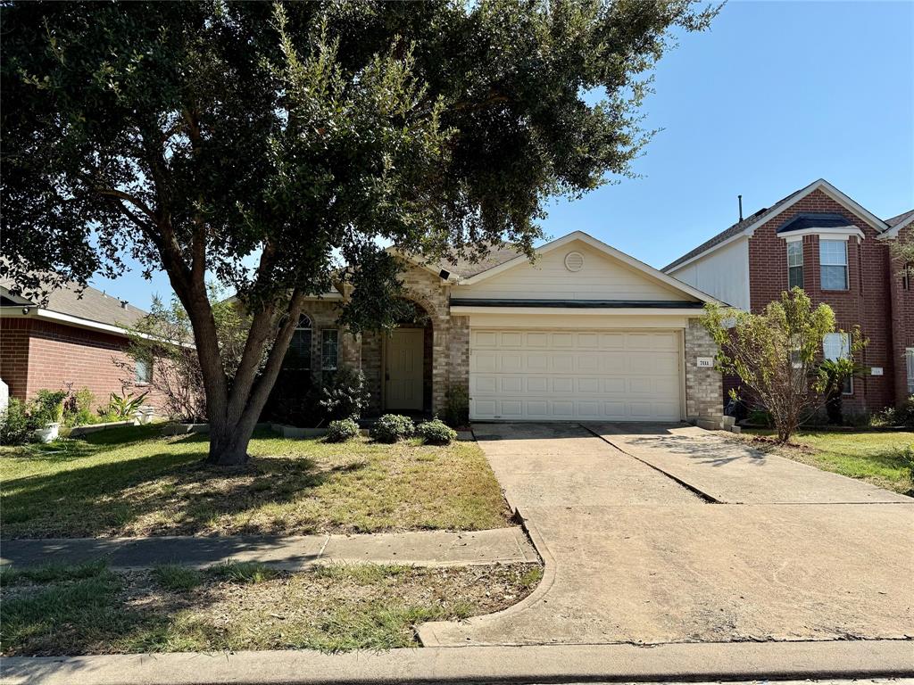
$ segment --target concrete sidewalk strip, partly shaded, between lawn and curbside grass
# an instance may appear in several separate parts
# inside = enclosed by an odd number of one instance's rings
[[[456,566],[539,561],[526,534],[516,527],[473,532],[423,531],[371,535],[76,538],[0,542],[0,564],[80,564],[97,559],[104,559],[115,568],[149,568],[170,563],[207,566],[235,561],[260,562],[292,571],[318,562]]]

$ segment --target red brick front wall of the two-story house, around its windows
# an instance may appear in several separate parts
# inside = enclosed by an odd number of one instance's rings
[[[834,309],[838,328],[849,331],[859,324],[869,344],[863,364],[881,366],[884,375],[864,375],[854,379],[854,394],[845,395],[845,408],[875,411],[895,402],[895,374],[898,364],[892,353],[891,306],[889,303],[888,248],[876,239],[877,231],[863,218],[849,212],[822,191],[816,190],[789,209],[758,227],[749,238],[749,297],[752,311],[762,310],[787,290],[787,243],[776,235],[778,227],[802,213],[840,214],[848,224],[863,231],[847,242],[849,290],[822,290],[819,272],[819,238],[804,236],[804,290],[813,304],[825,302]]]

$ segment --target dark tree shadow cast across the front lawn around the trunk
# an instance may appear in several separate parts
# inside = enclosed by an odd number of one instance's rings
[[[115,432],[120,435],[105,435]],[[126,534],[195,534],[207,531],[208,524],[220,516],[306,497],[327,479],[367,466],[356,462],[321,469],[308,457],[255,457],[242,467],[225,469],[203,461],[206,436],[149,443],[156,434],[150,427],[104,431],[85,440],[67,441],[68,448],[57,453],[48,449],[39,454],[42,461],[66,462],[66,466],[55,472],[5,479],[3,536],[118,535],[144,517],[155,521],[149,530]],[[124,458],[79,465],[80,458],[103,456],[143,442],[151,450],[162,451],[134,451]],[[161,515],[156,517],[157,513]],[[140,525],[142,529],[144,524]]]

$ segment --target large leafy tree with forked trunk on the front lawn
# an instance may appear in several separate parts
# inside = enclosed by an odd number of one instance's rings
[[[116,275],[128,255],[164,269],[193,326],[209,459],[239,463],[304,297],[345,280],[345,322],[373,328],[400,294],[379,244],[529,253],[549,196],[631,173],[650,69],[671,31],[715,11],[6,3],[0,269],[38,296]],[[207,275],[250,314],[231,374]]]

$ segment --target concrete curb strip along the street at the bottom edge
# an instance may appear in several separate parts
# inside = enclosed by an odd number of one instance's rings
[[[4,659],[5,685],[670,682],[914,676],[914,643],[738,642]]]

